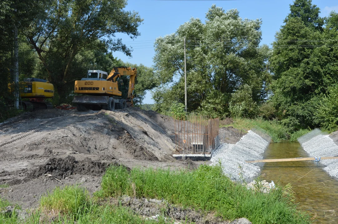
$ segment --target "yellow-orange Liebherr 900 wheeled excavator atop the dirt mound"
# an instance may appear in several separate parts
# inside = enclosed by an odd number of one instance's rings
[[[118,88],[118,81],[122,75],[129,75],[129,89],[127,99],[122,99],[122,93]],[[83,111],[89,108],[100,107],[105,110],[125,109],[134,106],[136,68],[114,67],[112,71],[89,70],[87,78],[75,81],[74,92],[84,96],[74,96],[73,103],[77,104],[77,110]]]

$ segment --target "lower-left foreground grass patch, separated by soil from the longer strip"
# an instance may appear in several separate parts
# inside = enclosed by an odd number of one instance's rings
[[[88,192],[78,185],[55,188],[40,199],[40,208],[34,211],[27,220],[19,220],[15,212],[0,213],[0,223],[4,224],[164,224],[173,223],[163,216],[155,220],[145,220],[134,211],[111,204],[100,205],[90,198]],[[5,209],[10,203],[0,199],[0,209]],[[42,212],[45,215],[42,215]]]

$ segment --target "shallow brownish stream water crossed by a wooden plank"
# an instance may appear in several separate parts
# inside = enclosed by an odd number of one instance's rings
[[[263,156],[264,159],[308,157],[298,142],[289,141],[271,143]],[[316,217],[313,223],[338,223],[338,180],[323,171],[320,162],[265,163],[261,180],[283,186],[292,183],[297,207]]]

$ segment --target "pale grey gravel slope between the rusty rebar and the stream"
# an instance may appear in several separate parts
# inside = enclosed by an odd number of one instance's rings
[[[212,154],[211,165],[221,163],[223,172],[234,181],[251,182],[261,173],[264,163],[245,161],[263,159],[262,153],[269,142],[253,131],[249,131],[235,145],[222,143]]]

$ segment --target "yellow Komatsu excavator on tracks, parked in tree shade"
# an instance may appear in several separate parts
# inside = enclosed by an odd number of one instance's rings
[[[14,83],[9,84],[9,91],[14,92]],[[45,79],[25,78],[19,82],[19,90],[21,100],[19,107],[24,110],[33,111],[33,109],[49,109],[53,108],[53,104],[45,101],[45,99],[54,97],[54,86]]]

